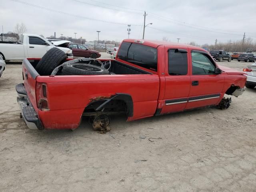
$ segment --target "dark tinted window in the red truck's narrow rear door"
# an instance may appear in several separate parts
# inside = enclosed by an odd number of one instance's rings
[[[179,52],[178,49],[168,51],[168,72],[170,75],[188,74],[187,52]]]

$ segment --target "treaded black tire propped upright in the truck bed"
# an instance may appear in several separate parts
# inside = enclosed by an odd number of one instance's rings
[[[36,65],[36,71],[40,75],[51,75],[52,71],[64,63],[66,58],[65,52],[56,47],[51,48]]]

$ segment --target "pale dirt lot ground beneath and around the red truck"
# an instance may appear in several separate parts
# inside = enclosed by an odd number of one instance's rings
[[[222,65],[242,70],[247,63]],[[85,119],[74,132],[38,131],[19,116],[21,72],[7,64],[0,78],[1,192],[256,191],[256,89],[233,97],[228,110],[113,117],[107,134]]]

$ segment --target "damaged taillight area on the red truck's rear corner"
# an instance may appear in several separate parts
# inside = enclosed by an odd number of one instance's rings
[[[47,84],[38,83],[36,84],[36,101],[38,109],[48,110],[48,100],[47,100]]]

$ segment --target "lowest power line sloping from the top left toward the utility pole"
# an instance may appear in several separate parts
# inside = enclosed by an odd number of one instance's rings
[[[62,12],[62,11],[57,11],[57,10],[53,10],[53,9],[50,9],[50,8],[38,6],[38,5],[35,5],[35,4],[23,2],[23,1],[20,1],[20,0],[12,0],[12,1],[19,2],[19,3],[22,3],[22,4],[26,4],[26,5],[29,5],[29,6],[32,6],[32,7],[48,10],[48,11],[51,11],[51,12],[56,12],[56,13],[60,13],[60,14],[64,14],[64,15],[69,15],[69,16],[73,16],[73,17],[82,18],[82,19],[88,19],[88,20],[112,23],[112,24],[119,24],[119,25],[127,25],[127,23],[118,23],[118,22],[112,22],[112,21],[106,21],[106,20],[99,20],[99,19],[94,19],[94,18],[90,18],[90,17],[84,17],[84,16],[79,16],[79,15],[75,15],[75,14],[70,14],[70,13]],[[133,26],[141,26],[141,25],[138,25],[138,24],[131,24],[131,25],[133,25]]]

